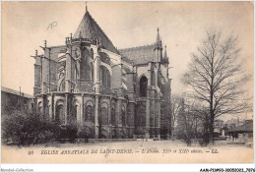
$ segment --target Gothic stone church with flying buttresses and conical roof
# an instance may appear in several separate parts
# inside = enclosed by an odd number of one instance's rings
[[[151,45],[117,50],[86,11],[64,45],[45,41],[33,56],[37,111],[62,127],[92,126],[95,138],[160,138],[170,121],[170,79],[156,34]]]

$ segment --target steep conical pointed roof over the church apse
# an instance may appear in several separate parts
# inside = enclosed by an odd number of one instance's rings
[[[113,53],[119,54],[118,50],[114,47],[110,39],[106,36],[102,29],[96,24],[96,21],[87,11],[82,19],[78,29],[76,30],[73,38],[93,38],[101,41],[103,47]]]

